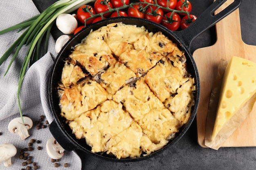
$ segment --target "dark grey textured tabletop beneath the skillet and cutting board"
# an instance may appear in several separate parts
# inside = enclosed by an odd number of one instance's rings
[[[33,0],[41,12],[56,0]],[[193,5],[192,14],[199,16],[213,0],[190,0]],[[239,7],[240,24],[243,41],[256,45],[256,3],[254,0],[243,0]],[[53,30],[56,39],[58,31]],[[193,40],[191,53],[195,49],[211,46],[216,41],[214,26]],[[143,161],[110,162],[77,151],[83,163],[83,170],[256,170],[256,147],[220,148],[213,150],[202,148],[197,143],[196,119],[193,124],[173,147]]]

